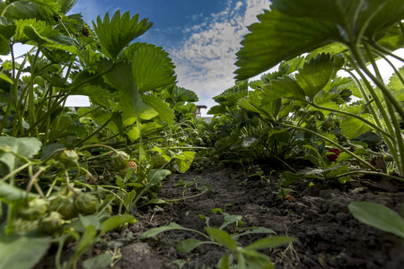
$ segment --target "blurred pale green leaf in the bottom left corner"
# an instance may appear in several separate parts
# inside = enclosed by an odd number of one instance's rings
[[[50,237],[10,234],[0,237],[0,268],[26,269],[36,265],[50,246]]]

